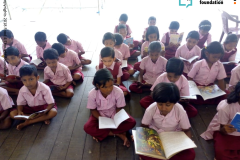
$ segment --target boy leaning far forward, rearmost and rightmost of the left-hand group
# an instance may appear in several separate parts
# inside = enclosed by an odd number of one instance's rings
[[[78,54],[78,57],[81,60],[82,65],[88,65],[92,63],[90,59],[82,57],[82,55],[85,54],[85,51],[82,47],[82,44],[79,43],[78,41],[70,39],[69,36],[67,36],[64,33],[59,34],[57,40],[59,43],[62,43],[67,49],[75,51]]]

